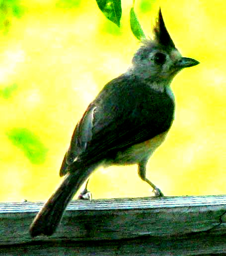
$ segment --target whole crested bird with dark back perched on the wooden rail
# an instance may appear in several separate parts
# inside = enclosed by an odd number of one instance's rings
[[[60,168],[65,178],[34,218],[32,237],[56,231],[67,205],[99,166],[138,164],[140,178],[163,196],[146,177],[146,165],[174,120],[173,78],[199,61],[182,57],[160,8],[153,38],[141,43],[127,71],[103,87],[77,123]]]

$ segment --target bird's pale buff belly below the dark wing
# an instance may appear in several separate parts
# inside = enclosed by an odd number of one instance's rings
[[[155,149],[161,145],[166,137],[167,131],[158,134],[157,136],[146,140],[142,143],[135,144],[130,148],[119,151],[111,164],[135,164],[143,159],[151,157]]]

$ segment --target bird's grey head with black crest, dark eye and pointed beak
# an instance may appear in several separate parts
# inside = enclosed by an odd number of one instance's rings
[[[170,84],[181,69],[199,64],[197,60],[181,56],[165,27],[160,8],[153,35],[153,39],[142,41],[143,45],[133,57],[129,72],[135,76]]]

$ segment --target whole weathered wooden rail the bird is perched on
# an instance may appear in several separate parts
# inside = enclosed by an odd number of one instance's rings
[[[181,247],[190,247],[186,250],[193,255],[226,252],[225,195],[75,200],[53,236],[32,239],[28,228],[42,205],[0,203],[0,253],[26,249],[26,255],[91,255],[94,250],[117,255],[121,250],[119,255],[126,255],[134,248],[132,255],[142,250],[143,255],[159,255],[159,250],[168,255],[164,252]]]

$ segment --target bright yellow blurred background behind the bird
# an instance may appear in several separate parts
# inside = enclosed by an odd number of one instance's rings
[[[0,201],[46,200],[77,121],[140,44],[132,0],[122,0],[120,28],[95,0],[14,2],[0,12]],[[146,35],[159,6],[182,55],[201,64],[172,82],[175,121],[147,175],[166,196],[226,194],[226,3],[137,0]],[[93,198],[152,195],[136,165],[100,168],[88,189]]]

